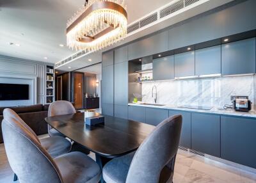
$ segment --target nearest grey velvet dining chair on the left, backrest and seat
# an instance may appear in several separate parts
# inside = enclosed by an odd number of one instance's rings
[[[93,159],[81,152],[52,158],[33,132],[10,114],[10,109],[4,110],[2,129],[8,161],[20,183],[99,182],[100,167]]]

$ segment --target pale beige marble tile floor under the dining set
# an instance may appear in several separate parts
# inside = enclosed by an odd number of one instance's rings
[[[41,137],[42,138],[42,137]],[[95,154],[90,157],[95,159]],[[0,183],[13,182],[13,171],[10,168],[4,145],[0,145]],[[18,183],[19,181],[17,181]],[[256,174],[211,159],[179,150],[174,172],[174,183],[253,183]]]

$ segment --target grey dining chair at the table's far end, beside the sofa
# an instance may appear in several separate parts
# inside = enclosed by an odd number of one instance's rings
[[[48,117],[58,115],[70,115],[76,113],[75,107],[71,102],[65,100],[58,100],[53,102],[48,109]],[[56,131],[50,125],[48,125],[49,136],[63,136],[61,132]]]

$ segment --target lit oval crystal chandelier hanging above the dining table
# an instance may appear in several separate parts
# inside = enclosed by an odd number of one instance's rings
[[[67,45],[73,50],[98,51],[127,35],[124,0],[86,0],[68,20]]]

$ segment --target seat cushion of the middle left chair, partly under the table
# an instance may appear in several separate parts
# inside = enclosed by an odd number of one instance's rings
[[[70,152],[71,143],[61,136],[51,136],[40,139],[42,147],[49,152],[52,158]]]

